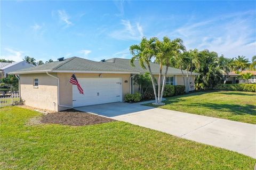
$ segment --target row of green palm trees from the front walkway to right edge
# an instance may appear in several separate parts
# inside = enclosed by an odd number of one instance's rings
[[[252,63],[245,56],[229,59],[223,55],[218,56],[217,52],[203,50],[186,50],[183,41],[180,38],[171,40],[164,37],[162,41],[152,37],[147,39],[143,37],[139,44],[130,46],[132,54],[131,66],[138,60],[143,69],[149,70],[151,83],[153,85],[155,103],[161,104],[165,86],[165,77],[169,67],[179,68],[182,72],[183,83],[186,86],[186,92],[189,91],[192,72],[197,72],[196,87],[207,88],[221,82],[221,79],[227,77],[230,71],[241,72],[245,69],[256,69],[256,56],[252,57]],[[150,68],[150,62],[159,64],[158,90],[156,92],[156,82]],[[163,72],[164,71],[164,72]],[[163,85],[161,88],[161,80]]]

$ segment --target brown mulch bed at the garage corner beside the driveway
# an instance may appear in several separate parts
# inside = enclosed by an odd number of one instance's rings
[[[70,126],[94,125],[113,121],[116,120],[98,115],[87,114],[86,112],[81,112],[74,109],[55,112],[54,114],[47,114],[41,118],[42,123]]]

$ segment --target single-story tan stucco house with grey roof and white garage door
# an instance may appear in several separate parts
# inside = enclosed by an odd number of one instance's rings
[[[157,78],[159,65],[151,63],[153,74]],[[113,58],[103,62],[72,57],[31,67],[12,74],[20,77],[20,93],[25,104],[31,107],[65,110],[67,108],[93,104],[119,102],[124,95],[138,91],[132,82],[132,76],[143,74],[138,61],[131,67],[130,60]],[[163,70],[164,72],[164,70]],[[80,94],[75,85],[69,83],[75,73],[84,90]],[[167,84],[183,85],[181,71],[169,68]],[[190,90],[194,90],[196,73],[192,73]]]

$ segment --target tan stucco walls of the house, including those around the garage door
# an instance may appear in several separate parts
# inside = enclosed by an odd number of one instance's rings
[[[64,106],[73,106],[72,85],[69,79],[72,73],[58,73],[51,75],[59,77],[60,84],[60,103]],[[83,74],[76,73],[77,78],[99,78],[99,74]],[[130,93],[130,74],[101,74],[103,78],[122,78],[122,96]],[[38,78],[38,88],[33,88],[34,78]],[[127,83],[125,83],[127,80]],[[66,110],[65,107],[57,107],[58,91],[57,79],[42,74],[26,74],[20,75],[21,98],[25,100],[27,106],[48,109],[48,110]],[[54,105],[56,103],[56,106]]]

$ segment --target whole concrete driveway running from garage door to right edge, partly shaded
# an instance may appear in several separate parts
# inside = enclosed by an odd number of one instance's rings
[[[75,109],[111,117],[256,158],[256,125],[151,108],[140,104],[118,102]]]

